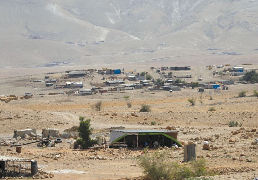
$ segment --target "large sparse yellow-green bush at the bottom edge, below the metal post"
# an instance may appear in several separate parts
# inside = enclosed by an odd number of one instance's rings
[[[207,174],[205,159],[197,159],[187,165],[179,165],[178,162],[167,160],[167,156],[169,156],[167,152],[154,152],[144,154],[138,159],[138,164],[147,179],[181,180]]]

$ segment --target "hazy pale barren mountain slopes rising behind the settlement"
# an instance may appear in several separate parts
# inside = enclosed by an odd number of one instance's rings
[[[255,63],[257,22],[258,0],[0,0],[0,67]]]

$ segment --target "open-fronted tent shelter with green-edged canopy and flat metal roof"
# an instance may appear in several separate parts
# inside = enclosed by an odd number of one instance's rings
[[[123,141],[128,144],[128,147],[145,146],[145,143],[153,144],[158,142],[161,146],[172,146],[178,144],[178,131],[170,130],[111,130],[109,143]]]

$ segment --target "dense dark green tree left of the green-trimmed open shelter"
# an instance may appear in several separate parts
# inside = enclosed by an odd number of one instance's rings
[[[83,117],[83,116],[81,116]],[[91,119],[87,119],[84,121],[84,118],[80,119],[80,126],[78,128],[78,135],[81,138],[78,138],[78,143],[82,146],[82,148],[91,147],[93,144],[97,144],[97,140],[92,140],[90,135],[92,134],[93,128],[91,128]]]

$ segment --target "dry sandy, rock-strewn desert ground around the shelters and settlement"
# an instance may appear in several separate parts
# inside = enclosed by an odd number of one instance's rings
[[[156,66],[158,67],[159,64]],[[200,77],[205,82],[217,79],[237,81],[235,77],[212,77],[211,71],[208,71],[205,66],[206,64],[199,67],[193,66],[189,71],[173,71],[173,73],[177,76],[192,74],[192,79],[185,79],[188,83],[195,82]],[[124,67],[124,72],[136,69],[132,65]],[[98,68],[102,69],[102,66]],[[257,69],[258,65],[244,66],[244,68],[245,70]],[[181,88],[181,91],[172,93],[163,90],[134,89],[88,96],[68,96],[63,94],[67,88],[54,89],[54,86],[45,87],[45,83],[32,82],[44,79],[46,73],[50,72],[50,78],[57,79],[56,85],[65,85],[68,81],[82,81],[83,89],[91,89],[93,82],[104,83],[109,79],[108,75],[97,75],[97,73],[86,77],[64,79],[64,71],[70,69],[86,68],[82,66],[59,69],[35,68],[32,72],[26,68],[20,68],[14,69],[15,73],[13,71],[1,73],[2,95],[22,96],[25,92],[33,94],[30,99],[12,100],[9,103],[0,102],[2,143],[7,139],[16,141],[11,139],[14,130],[19,129],[35,128],[37,133],[41,133],[44,128],[57,128],[59,132],[63,132],[78,126],[80,116],[91,119],[91,125],[94,128],[93,138],[101,135],[107,140],[109,135],[106,133],[114,127],[165,129],[169,126],[179,131],[178,140],[181,144],[188,142],[196,144],[197,158],[205,158],[207,169],[216,172],[215,176],[207,178],[255,179],[258,177],[258,144],[253,143],[258,136],[258,98],[253,96],[253,90],[258,90],[258,84],[235,83],[227,85],[228,90],[205,89],[202,93],[202,104],[198,89]],[[2,70],[7,72],[5,69]],[[154,79],[161,77],[155,70],[149,69],[149,66],[138,64],[137,72],[142,71],[148,71]],[[103,77],[105,80],[102,80]],[[118,75],[118,78],[126,79],[126,75]],[[132,82],[125,80],[125,83]],[[243,90],[247,91],[247,96],[238,97],[238,93]],[[48,95],[53,92],[60,94]],[[124,98],[126,95],[130,96],[128,100]],[[212,100],[210,96],[213,97]],[[193,106],[188,102],[192,97],[196,99],[196,105]],[[103,102],[103,107],[101,111],[95,111],[92,106],[100,100]],[[127,102],[131,102],[132,107],[127,107]],[[139,112],[143,103],[151,106],[151,112]],[[210,107],[214,107],[215,111],[209,111]],[[131,113],[137,116],[131,116]],[[145,118],[147,120],[144,120]],[[227,123],[232,120],[241,123],[242,127],[229,127]],[[156,124],[151,126],[151,121],[155,121]],[[142,149],[129,148],[129,152],[125,150],[120,152],[118,149],[115,149],[115,152],[72,149],[68,140],[75,139],[63,139],[62,143],[46,148],[39,148],[36,143],[24,145],[20,154],[16,153],[15,148],[2,146],[0,154],[34,159],[39,168],[55,174],[52,179],[141,179],[143,176],[142,169],[137,164],[137,156],[141,155]],[[211,146],[209,150],[203,150],[204,140],[209,140]],[[18,142],[25,142],[25,140]],[[169,151],[171,154],[169,161],[184,164],[183,148],[174,151],[154,148],[149,151],[151,153]],[[102,157],[104,160],[99,160]]]

